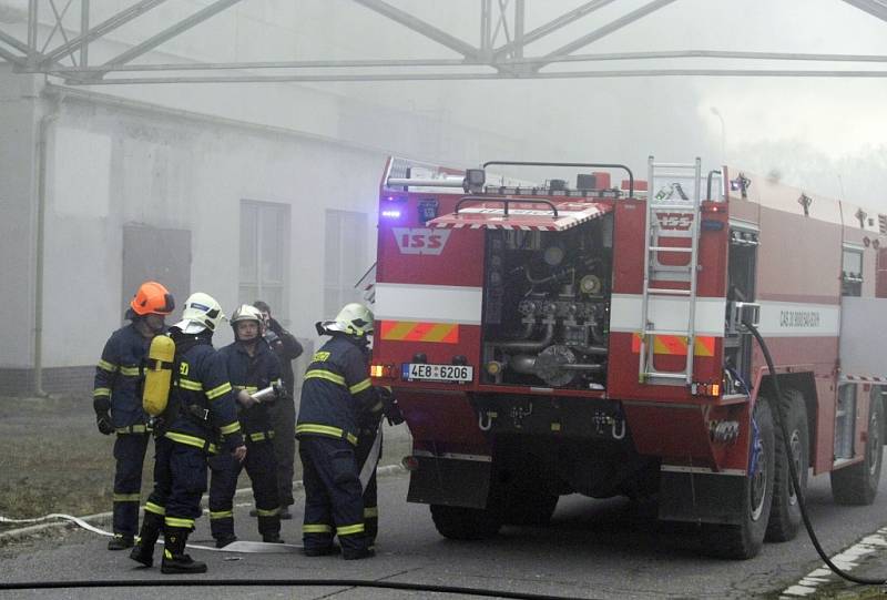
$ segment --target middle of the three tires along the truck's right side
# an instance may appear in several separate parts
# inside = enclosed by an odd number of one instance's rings
[[[788,430],[788,444],[792,456],[785,451],[782,429],[774,424],[774,451],[776,468],[773,475],[773,506],[769,509],[767,541],[788,541],[795,539],[801,529],[801,507],[792,486],[792,472],[788,461],[795,462],[801,492],[807,492],[807,475],[809,471],[809,430],[807,429],[807,407],[804,396],[796,389],[789,389],[779,404],[785,428]]]

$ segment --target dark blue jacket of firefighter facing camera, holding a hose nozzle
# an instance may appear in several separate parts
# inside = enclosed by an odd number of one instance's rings
[[[264,441],[274,437],[274,430],[268,416],[268,406],[264,403],[254,404],[244,408],[236,401],[237,393],[245,389],[253,394],[272,384],[281,385],[281,362],[268,346],[267,342],[259,338],[256,342],[255,355],[249,356],[243,344],[235,342],[218,350],[227,365],[228,380],[234,388],[234,398],[237,405],[237,416],[243,427],[244,436],[251,441]],[[292,435],[287,433],[287,435]]]

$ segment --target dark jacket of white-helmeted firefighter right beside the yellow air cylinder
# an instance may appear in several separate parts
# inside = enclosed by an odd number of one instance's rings
[[[184,335],[173,328],[173,387],[161,415],[163,436],[210,454],[243,445],[227,367],[207,335]]]

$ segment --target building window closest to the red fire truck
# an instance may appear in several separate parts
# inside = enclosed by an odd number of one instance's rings
[[[324,317],[333,318],[349,302],[363,302],[355,284],[371,262],[367,256],[367,214],[328,210],[324,246]]]

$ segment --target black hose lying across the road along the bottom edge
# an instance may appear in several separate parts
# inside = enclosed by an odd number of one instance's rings
[[[462,596],[480,596],[486,598],[513,598],[517,600],[579,600],[578,598],[571,598],[568,596],[548,596],[544,593],[524,593],[504,590],[486,590],[480,588],[460,588],[457,586],[399,583],[396,581],[376,581],[371,579],[112,579],[106,581],[21,581],[14,583],[0,583],[0,591],[32,589],[53,590],[67,588],[160,588],[175,586],[194,588],[208,588],[218,586],[379,588],[388,590],[427,591],[434,593],[460,593]]]

